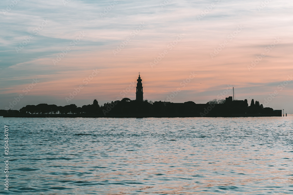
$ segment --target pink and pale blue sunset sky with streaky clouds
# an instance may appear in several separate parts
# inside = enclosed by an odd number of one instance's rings
[[[2,0],[0,109],[251,99],[293,113],[293,2]]]

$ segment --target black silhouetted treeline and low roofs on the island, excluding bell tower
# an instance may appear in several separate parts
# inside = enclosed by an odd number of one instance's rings
[[[8,111],[9,112],[9,111]],[[280,115],[272,108],[264,108],[258,101],[252,99],[248,105],[245,100],[232,100],[232,97],[225,100],[212,100],[206,104],[196,104],[193,101],[184,103],[171,103],[162,101],[136,101],[124,98],[121,101],[98,104],[95,99],[93,104],[77,107],[75,104],[56,106],[54,104],[41,103],[38,105],[27,105],[19,112],[11,111],[10,114],[74,114],[74,115]],[[7,113],[6,113],[7,114]],[[281,113],[282,114],[282,113]]]

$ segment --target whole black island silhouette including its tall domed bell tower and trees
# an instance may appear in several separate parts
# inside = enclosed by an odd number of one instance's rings
[[[122,100],[98,104],[95,99],[93,104],[77,107],[75,104],[57,106],[41,103],[27,105],[18,110],[0,110],[3,117],[113,117],[113,118],[142,118],[142,117],[257,117],[257,116],[282,116],[282,110],[264,108],[259,101],[252,99],[248,105],[247,99],[233,100],[232,96],[225,100],[214,99],[205,104],[193,101],[172,103],[166,101],[143,100],[142,79],[137,79],[136,99]]]

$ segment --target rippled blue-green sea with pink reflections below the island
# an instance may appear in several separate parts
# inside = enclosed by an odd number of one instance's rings
[[[0,121],[0,194],[293,194],[293,116]]]

